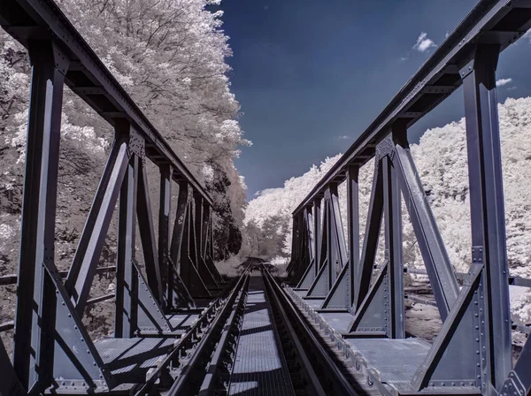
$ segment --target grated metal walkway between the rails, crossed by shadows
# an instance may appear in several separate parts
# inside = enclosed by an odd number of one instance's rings
[[[295,394],[261,276],[250,278],[249,294],[228,394],[246,396]]]

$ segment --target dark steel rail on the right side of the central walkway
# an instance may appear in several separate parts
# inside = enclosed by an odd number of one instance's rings
[[[319,378],[319,388],[324,389],[324,394],[358,394],[357,390],[350,384],[350,381],[344,376],[342,370],[339,369],[328,354],[325,347],[322,346],[319,339],[314,335],[313,329],[306,324],[299,310],[293,306],[288,296],[282,291],[281,286],[273,279],[273,276],[268,270],[263,270],[263,273],[266,274],[266,287],[270,288],[271,295],[275,301],[278,301],[280,307],[284,309],[286,320],[294,328],[294,337],[299,342],[304,338],[303,341],[311,346],[303,347],[303,352],[304,354],[312,354],[312,358],[308,358],[308,362],[312,365],[314,376]],[[318,392],[317,394],[322,393]]]

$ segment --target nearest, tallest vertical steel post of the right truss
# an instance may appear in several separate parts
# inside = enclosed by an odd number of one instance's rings
[[[483,380],[498,392],[512,368],[511,311],[505,245],[504,188],[497,115],[498,45],[478,45],[473,62],[461,71],[465,95],[466,145],[470,186],[472,257],[486,274],[487,365]],[[485,378],[486,377],[486,378]]]

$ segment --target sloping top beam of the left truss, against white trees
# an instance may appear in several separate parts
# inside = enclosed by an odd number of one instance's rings
[[[52,38],[58,42],[70,60],[65,84],[112,126],[116,126],[117,119],[127,118],[146,139],[146,156],[155,164],[170,164],[175,181],[186,179],[196,194],[212,205],[212,198],[202,184],[53,0],[3,0],[0,25],[26,48],[35,39]]]

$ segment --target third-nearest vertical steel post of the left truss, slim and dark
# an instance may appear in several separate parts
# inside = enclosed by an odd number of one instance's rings
[[[168,279],[170,272],[170,213],[172,212],[172,166],[160,166],[160,204],[158,207],[158,266],[165,294],[169,304]],[[165,307],[164,307],[165,308]]]

